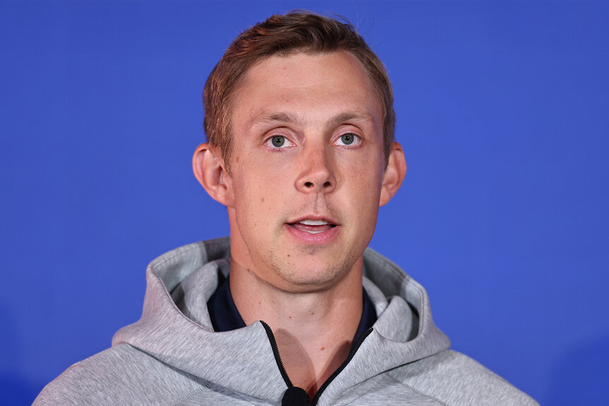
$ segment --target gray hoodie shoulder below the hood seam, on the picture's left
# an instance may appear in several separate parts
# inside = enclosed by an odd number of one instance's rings
[[[34,405],[166,405],[200,388],[189,376],[121,344],[70,366]]]

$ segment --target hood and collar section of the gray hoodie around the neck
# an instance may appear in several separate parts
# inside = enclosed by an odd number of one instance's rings
[[[173,369],[266,402],[281,402],[286,385],[260,322],[216,333],[206,302],[230,270],[228,238],[182,246],[146,270],[139,321],[114,335]],[[362,381],[450,347],[432,321],[425,289],[372,249],[364,253],[363,286],[377,322],[318,405],[332,404]]]

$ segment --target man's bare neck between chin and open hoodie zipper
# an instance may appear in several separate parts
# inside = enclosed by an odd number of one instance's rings
[[[348,356],[360,323],[362,258],[333,287],[303,293],[278,289],[233,258],[230,291],[246,325],[271,327],[290,380],[312,398]]]

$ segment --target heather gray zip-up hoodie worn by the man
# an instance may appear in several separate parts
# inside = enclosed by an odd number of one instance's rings
[[[230,265],[228,239],[180,247],[146,273],[141,319],[112,348],[74,364],[35,405],[280,405],[287,389],[256,322],[215,333],[206,301]],[[317,405],[537,405],[463,354],[433,323],[425,289],[367,249],[378,320]]]

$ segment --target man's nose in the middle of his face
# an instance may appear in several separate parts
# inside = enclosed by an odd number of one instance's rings
[[[333,162],[326,145],[311,148],[300,157],[296,189],[302,193],[330,193],[336,188]]]

